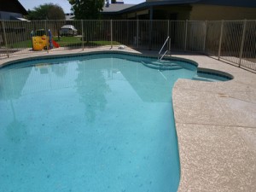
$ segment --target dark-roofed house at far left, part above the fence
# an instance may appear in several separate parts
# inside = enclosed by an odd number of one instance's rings
[[[25,20],[23,15],[27,12],[18,0],[1,0],[0,20]]]

